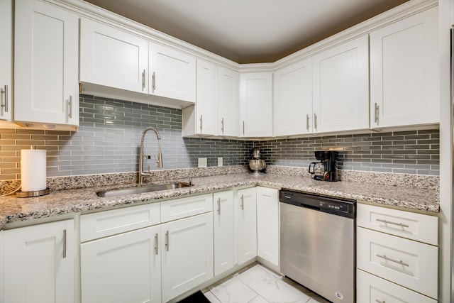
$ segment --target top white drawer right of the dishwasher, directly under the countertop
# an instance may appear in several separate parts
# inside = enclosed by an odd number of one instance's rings
[[[438,217],[358,203],[358,226],[438,245]]]

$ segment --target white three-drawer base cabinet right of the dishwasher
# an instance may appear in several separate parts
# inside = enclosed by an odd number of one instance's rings
[[[380,286],[387,285],[381,279],[362,281],[362,275],[358,275],[358,298],[371,294],[382,298],[392,297],[394,290],[396,297],[402,297],[405,292],[401,289],[405,287],[408,292],[414,291],[437,299],[438,247],[432,244],[436,244],[438,238],[437,229],[433,228],[437,218],[366,204],[358,204],[357,217],[357,272],[367,272],[394,285],[388,289]],[[369,284],[378,285],[380,290],[375,286],[367,286]],[[405,297],[406,301],[399,301],[396,297],[393,297],[394,301],[379,298],[376,302],[433,302],[430,299],[412,300],[409,297]],[[360,299],[358,302],[369,300]]]

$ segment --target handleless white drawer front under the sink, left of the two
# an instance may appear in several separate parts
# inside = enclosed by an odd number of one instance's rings
[[[80,216],[80,241],[90,241],[155,224],[160,224],[159,203],[84,214]]]

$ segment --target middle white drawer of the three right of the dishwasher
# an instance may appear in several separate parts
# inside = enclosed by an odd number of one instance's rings
[[[436,298],[438,248],[386,233],[357,228],[357,265],[411,290]]]

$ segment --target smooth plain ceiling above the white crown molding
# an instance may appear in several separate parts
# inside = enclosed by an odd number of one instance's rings
[[[238,63],[274,62],[407,0],[86,0]]]

